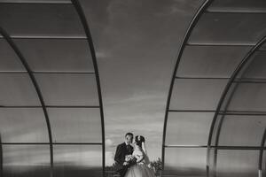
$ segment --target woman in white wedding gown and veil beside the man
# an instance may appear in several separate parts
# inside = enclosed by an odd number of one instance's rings
[[[129,167],[125,177],[155,177],[153,169],[150,167],[150,160],[147,156],[144,136],[137,135],[135,137],[132,156],[137,158],[137,163]]]

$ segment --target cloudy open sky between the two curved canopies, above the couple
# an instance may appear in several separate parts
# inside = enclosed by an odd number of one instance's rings
[[[168,88],[176,55],[200,0],[82,1],[98,57],[106,165],[124,135],[144,135],[161,157]]]

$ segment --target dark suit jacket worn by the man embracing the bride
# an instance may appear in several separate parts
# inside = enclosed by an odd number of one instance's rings
[[[118,164],[117,171],[121,173],[121,176],[123,176],[123,173],[127,171],[128,166],[124,166],[123,163],[125,162],[125,158],[127,155],[130,155],[133,153],[133,147],[130,146],[129,150],[127,149],[126,142],[123,142],[119,144],[116,148],[114,161]]]

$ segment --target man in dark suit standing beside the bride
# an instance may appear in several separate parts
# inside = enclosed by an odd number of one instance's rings
[[[114,161],[119,166],[117,172],[120,173],[121,177],[125,176],[129,168],[129,165],[132,165],[132,163],[126,162],[125,160],[127,155],[132,155],[133,153],[133,147],[131,146],[132,141],[133,141],[133,134],[127,133],[125,135],[125,142],[119,144],[116,148]]]

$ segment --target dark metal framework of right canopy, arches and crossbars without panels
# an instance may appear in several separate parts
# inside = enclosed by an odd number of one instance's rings
[[[219,127],[218,127],[218,134],[216,135],[217,139],[215,139],[215,145],[211,144],[212,141],[212,136],[214,134],[214,127],[215,127],[215,123],[216,123],[216,119],[218,115],[223,115],[223,117],[225,115],[256,115],[256,116],[265,116],[265,112],[226,112],[226,111],[221,111],[221,106],[223,104],[223,99],[225,98],[225,96],[227,95],[227,92],[229,89],[231,89],[231,84],[232,83],[237,83],[236,85],[239,85],[239,83],[245,83],[245,82],[252,82],[252,83],[264,83],[264,80],[239,80],[239,78],[236,78],[236,76],[238,75],[239,71],[241,70],[241,68],[244,67],[244,65],[246,64],[247,60],[249,60],[252,55],[254,54],[254,51],[256,50],[260,50],[260,47],[262,46],[263,42],[265,42],[265,37],[263,37],[259,42],[257,43],[197,43],[197,42],[188,42],[191,35],[192,35],[192,30],[194,29],[194,27],[197,26],[197,23],[199,22],[201,16],[204,13],[232,13],[232,12],[227,12],[227,11],[209,11],[207,10],[207,8],[214,2],[214,0],[206,0],[198,9],[198,11],[195,13],[189,27],[187,28],[187,31],[184,35],[184,39],[183,42],[181,43],[181,47],[178,51],[178,55],[177,55],[177,59],[176,59],[176,65],[174,68],[174,72],[172,74],[172,79],[170,82],[170,87],[168,90],[168,100],[167,100],[167,105],[166,105],[166,112],[165,112],[165,119],[164,119],[164,127],[163,127],[163,136],[162,136],[162,166],[164,169],[164,164],[165,164],[165,149],[166,148],[205,148],[207,149],[207,176],[209,176],[209,156],[210,156],[210,150],[215,150],[215,158],[217,153],[217,150],[260,150],[261,154],[260,154],[260,163],[262,163],[262,154],[263,154],[263,150],[265,150],[264,147],[264,142],[262,146],[218,146],[218,142],[219,142],[219,134],[221,131],[221,127],[223,124],[223,120],[219,122]],[[265,12],[233,12],[233,13],[265,13]],[[235,71],[231,74],[230,78],[205,78],[205,77],[178,77],[176,76],[179,64],[181,59],[183,58],[183,54],[184,54],[184,48],[186,46],[248,46],[248,47],[252,47],[251,50],[249,50],[249,52],[246,54],[245,58],[242,59],[242,61],[240,62],[239,66],[235,68]],[[215,110],[175,110],[175,109],[170,109],[170,102],[171,102],[171,97],[172,97],[172,93],[173,93],[173,88],[175,85],[175,81],[176,79],[196,79],[196,80],[200,80],[200,79],[214,79],[214,80],[229,80],[225,89],[223,90],[223,94],[220,97],[219,103],[217,105],[217,108]],[[233,94],[232,94],[233,95]],[[230,103],[230,100],[229,100]],[[228,103],[228,104],[229,104]],[[211,127],[209,130],[209,135],[208,135],[208,141],[207,141],[207,145],[167,145],[166,144],[166,134],[167,134],[167,124],[168,124],[168,112],[214,112],[215,116],[212,120],[211,123]],[[263,136],[262,140],[265,139],[265,135]],[[265,141],[265,140],[264,140]],[[262,169],[262,164],[259,165],[259,169]]]

